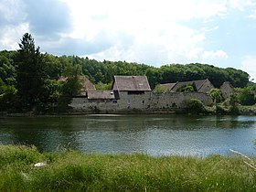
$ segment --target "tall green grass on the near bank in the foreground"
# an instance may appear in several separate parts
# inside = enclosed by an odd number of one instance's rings
[[[40,154],[35,147],[0,145],[0,191],[255,191],[256,170],[244,160]]]

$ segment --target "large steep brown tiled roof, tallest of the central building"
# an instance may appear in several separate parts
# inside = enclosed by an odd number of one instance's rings
[[[114,76],[112,90],[151,91],[146,76]]]

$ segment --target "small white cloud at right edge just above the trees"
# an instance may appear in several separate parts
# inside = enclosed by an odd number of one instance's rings
[[[248,72],[251,80],[256,82],[256,56],[246,56],[241,62],[241,69]]]

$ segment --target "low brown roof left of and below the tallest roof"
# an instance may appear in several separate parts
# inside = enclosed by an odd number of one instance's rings
[[[113,91],[87,91],[89,100],[114,100],[115,95]]]

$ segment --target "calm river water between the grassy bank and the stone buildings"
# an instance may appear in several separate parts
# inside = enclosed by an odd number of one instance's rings
[[[84,115],[2,117],[1,144],[84,153],[256,156],[256,116]]]

